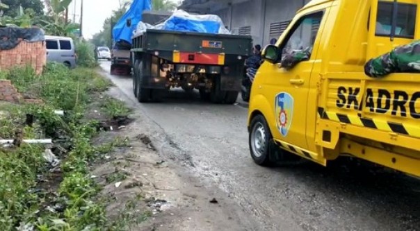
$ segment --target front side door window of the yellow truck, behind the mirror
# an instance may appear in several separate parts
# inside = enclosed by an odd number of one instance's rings
[[[292,51],[312,51],[322,17],[323,12],[302,17],[294,27],[295,29],[292,29],[282,54],[289,54]]]

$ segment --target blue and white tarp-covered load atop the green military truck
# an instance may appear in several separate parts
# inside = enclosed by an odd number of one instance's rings
[[[191,15],[184,10],[175,11],[165,22],[155,26],[139,22],[134,35],[143,33],[147,29],[230,34],[229,30],[225,28],[222,19],[217,15]]]

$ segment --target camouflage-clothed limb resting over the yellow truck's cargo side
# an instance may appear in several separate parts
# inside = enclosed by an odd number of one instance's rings
[[[397,46],[389,53],[366,62],[367,76],[379,78],[391,73],[420,73],[420,40]]]

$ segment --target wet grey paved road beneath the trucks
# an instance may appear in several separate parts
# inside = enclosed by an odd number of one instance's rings
[[[109,72],[108,62],[102,67]],[[136,101],[131,78],[108,77]],[[171,92],[165,103],[136,105],[186,153],[179,161],[223,189],[258,230],[420,230],[418,180],[343,164],[263,168],[250,158],[242,104]]]

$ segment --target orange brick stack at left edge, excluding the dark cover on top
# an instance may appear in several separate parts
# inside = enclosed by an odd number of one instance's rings
[[[46,54],[45,41],[21,41],[14,49],[0,51],[0,70],[31,65],[39,75],[47,63]]]

